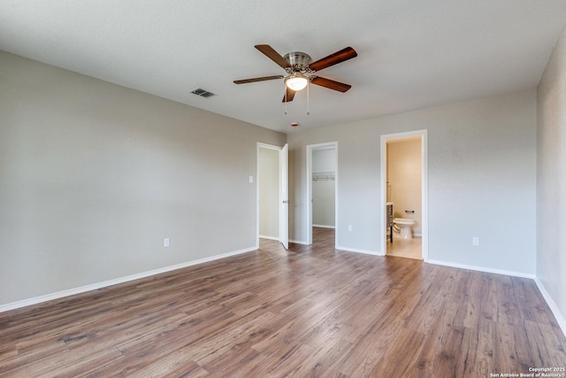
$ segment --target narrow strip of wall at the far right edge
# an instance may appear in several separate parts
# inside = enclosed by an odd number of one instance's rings
[[[566,31],[538,88],[537,277],[566,329]]]

